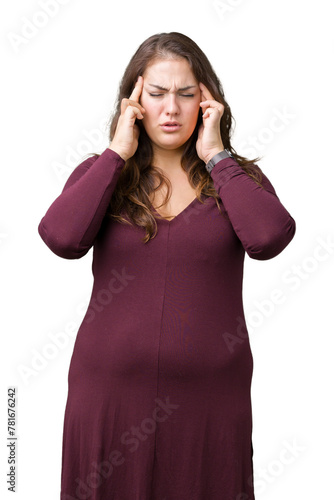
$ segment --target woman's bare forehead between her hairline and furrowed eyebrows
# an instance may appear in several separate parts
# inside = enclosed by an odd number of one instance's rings
[[[189,62],[182,59],[158,59],[147,66],[143,74],[145,83],[157,85],[196,85],[197,81]]]

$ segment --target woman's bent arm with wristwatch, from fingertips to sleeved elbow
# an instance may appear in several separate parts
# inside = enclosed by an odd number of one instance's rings
[[[203,123],[196,143],[198,156],[208,163],[224,150],[220,120],[224,105],[213,99],[203,83],[199,83]],[[261,171],[262,172],[262,171]],[[229,216],[233,229],[250,257],[272,259],[292,240],[296,223],[280,202],[269,179],[263,175],[259,186],[234,158],[218,161],[211,170],[214,187]]]

